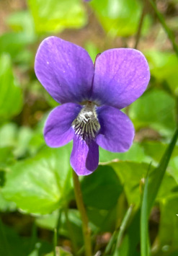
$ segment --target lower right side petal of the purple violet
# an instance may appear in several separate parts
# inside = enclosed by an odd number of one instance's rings
[[[133,123],[127,115],[115,107],[98,107],[101,130],[96,142],[103,149],[112,152],[127,151],[133,143]]]

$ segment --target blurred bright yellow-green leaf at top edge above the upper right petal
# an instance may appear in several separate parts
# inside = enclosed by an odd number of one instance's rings
[[[138,1],[92,0],[91,6],[104,30],[111,36],[128,36],[137,31],[142,9]],[[143,30],[148,27],[148,23],[149,20],[146,17]]]

